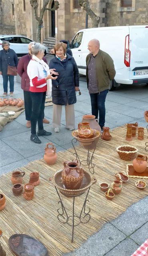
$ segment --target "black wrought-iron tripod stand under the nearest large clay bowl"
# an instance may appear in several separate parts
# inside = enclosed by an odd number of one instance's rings
[[[56,186],[55,186],[56,188]],[[80,216],[75,215],[75,211],[74,211],[74,202],[75,202],[75,197],[73,196],[73,203],[72,203],[72,215],[68,216],[66,209],[64,207],[64,204],[62,202],[62,198],[56,188],[56,192],[58,194],[58,197],[60,198],[60,201],[58,202],[58,204],[61,204],[62,208],[59,208],[58,211],[58,220],[63,223],[63,224],[68,224],[69,226],[72,226],[72,242],[74,239],[74,227],[78,226],[80,223],[87,223],[90,220],[90,208],[88,208],[88,212],[86,212],[86,202],[88,201],[87,196],[88,193],[90,191],[90,187],[88,188],[87,194],[86,194],[86,198],[84,200],[84,204],[80,213]],[[89,201],[88,201],[89,202]],[[60,211],[62,210],[62,212],[60,213]],[[77,220],[77,223],[76,223]],[[71,223],[70,223],[71,222]]]

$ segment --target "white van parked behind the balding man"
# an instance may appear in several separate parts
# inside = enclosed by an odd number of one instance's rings
[[[70,47],[80,74],[86,75],[88,42],[100,41],[100,49],[114,60],[116,76],[113,90],[120,84],[148,84],[148,26],[88,28],[78,31]]]

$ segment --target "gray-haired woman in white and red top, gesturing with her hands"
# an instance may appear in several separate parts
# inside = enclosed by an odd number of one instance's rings
[[[34,43],[31,47],[32,59],[27,67],[27,74],[30,78],[30,92],[32,97],[31,116],[31,137],[35,143],[41,143],[38,136],[49,136],[51,132],[46,132],[43,128],[45,98],[48,79],[56,79],[50,74],[48,65],[42,60],[44,56],[44,45]],[[36,124],[38,122],[38,132],[36,135]]]

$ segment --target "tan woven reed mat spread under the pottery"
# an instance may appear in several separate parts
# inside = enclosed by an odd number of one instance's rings
[[[147,133],[145,129],[145,134]],[[29,181],[30,172],[40,173],[40,185],[34,188],[35,196],[31,201],[26,201],[23,196],[12,194],[10,181],[12,172],[0,177],[1,193],[6,195],[6,207],[0,212],[0,228],[3,236],[0,238],[7,256],[14,255],[8,248],[8,238],[15,233],[24,233],[37,238],[48,249],[49,255],[58,256],[79,248],[89,236],[97,232],[104,223],[115,219],[128,206],[148,195],[148,186],[144,190],[138,190],[135,186],[136,178],[130,178],[127,184],[123,184],[122,191],[115,195],[112,201],[105,198],[100,191],[99,182],[111,184],[115,180],[116,172],[126,171],[126,164],[132,161],[121,160],[116,152],[116,147],[130,144],[138,148],[139,154],[146,154],[144,147],[147,138],[140,141],[134,138],[131,142],[125,140],[126,127],[118,127],[110,132],[110,141],[99,140],[94,154],[96,184],[92,185],[88,194],[89,202],[86,203],[86,212],[90,207],[90,221],[74,228],[74,242],[71,243],[72,227],[61,224],[57,219],[58,195],[49,177],[55,171],[63,168],[64,160],[74,159],[73,148],[58,152],[56,164],[48,166],[44,159],[30,162],[27,166],[18,170],[25,171],[23,185]],[[86,159],[86,150],[82,146],[77,147],[80,159]],[[145,180],[146,181],[146,180]],[[75,198],[75,213],[80,214],[86,193]],[[72,198],[62,196],[68,215],[72,214]],[[62,211],[61,211],[62,212]]]

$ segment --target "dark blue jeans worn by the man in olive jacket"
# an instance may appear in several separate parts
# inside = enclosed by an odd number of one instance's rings
[[[98,119],[99,112],[99,125],[104,127],[105,124],[105,100],[108,90],[98,93],[90,93],[90,100],[92,106],[92,115],[96,116]]]

